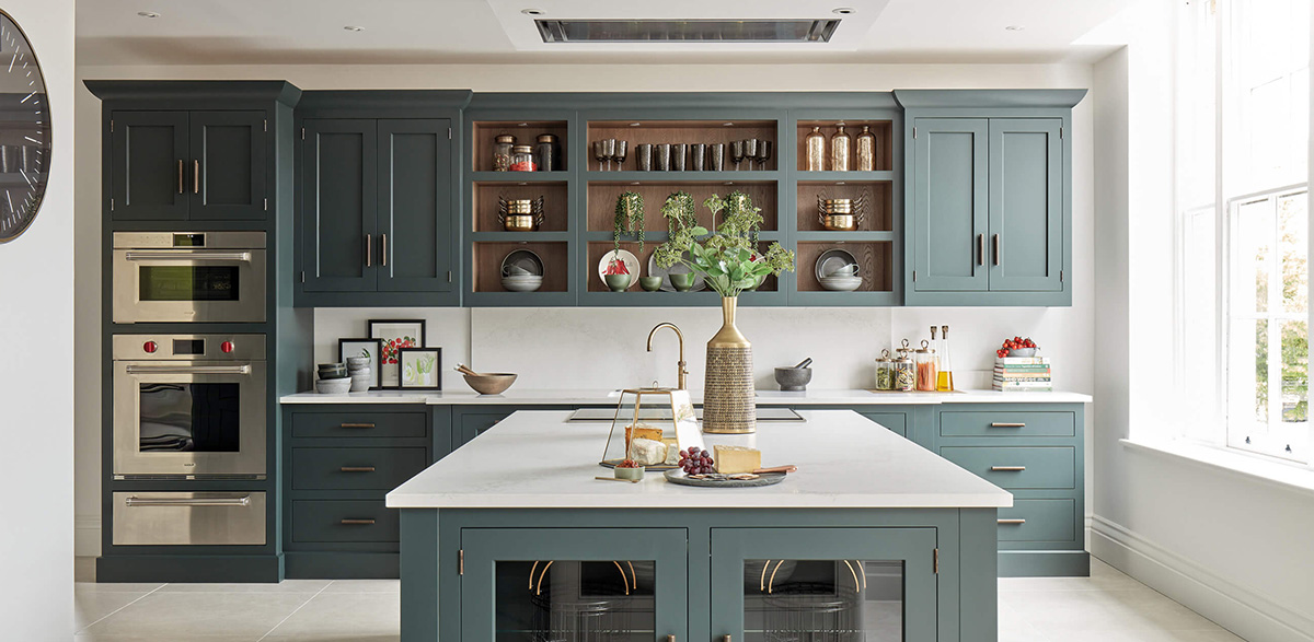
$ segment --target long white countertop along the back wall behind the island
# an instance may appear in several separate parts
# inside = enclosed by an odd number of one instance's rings
[[[703,403],[700,390],[691,391],[694,403]],[[472,390],[406,391],[374,390],[322,395],[297,393],[280,402],[293,403],[427,403],[432,406],[615,406],[614,390],[516,390],[499,395],[481,395]],[[996,393],[964,390],[961,393],[872,393],[870,390],[808,390],[784,393],[758,390],[758,406],[908,406],[941,403],[1089,403],[1091,395],[1080,393]]]

